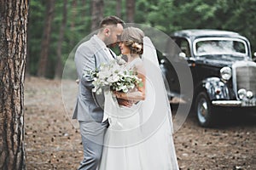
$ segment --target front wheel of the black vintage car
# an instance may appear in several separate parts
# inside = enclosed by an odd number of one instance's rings
[[[211,127],[214,122],[213,107],[206,93],[201,92],[195,100],[197,120],[202,127]]]

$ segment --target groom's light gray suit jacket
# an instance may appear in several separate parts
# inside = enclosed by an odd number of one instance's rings
[[[108,63],[109,57],[105,51],[107,49],[106,46],[101,46],[94,36],[89,41],[80,44],[75,53],[74,60],[79,76],[79,94],[73,119],[102,122],[103,110],[100,105],[104,101],[103,94],[96,97],[92,93],[91,90],[94,87],[91,82],[93,80],[89,76],[84,77],[84,71],[95,70],[101,63]]]

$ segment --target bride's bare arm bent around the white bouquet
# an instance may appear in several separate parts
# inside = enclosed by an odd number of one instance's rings
[[[137,65],[135,69],[137,71],[137,77],[141,78],[143,81],[143,87],[137,87],[137,91],[129,92],[129,93],[114,92],[117,98],[126,99],[133,102],[137,102],[145,99],[145,86],[146,86],[145,71],[142,65]]]

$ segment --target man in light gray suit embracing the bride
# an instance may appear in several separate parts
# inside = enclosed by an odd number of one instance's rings
[[[108,120],[102,122],[102,96],[92,93],[91,77],[84,77],[83,72],[95,70],[101,63],[108,63],[115,54],[107,47],[119,41],[124,29],[124,21],[116,16],[108,16],[100,23],[96,35],[79,45],[75,53],[75,64],[79,76],[79,94],[73,113],[73,119],[78,119],[84,160],[80,162],[79,170],[96,170],[102,157],[102,144]]]

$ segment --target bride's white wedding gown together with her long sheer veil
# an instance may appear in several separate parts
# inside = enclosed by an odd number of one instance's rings
[[[144,39],[143,43],[143,56],[149,52],[152,56],[155,51],[152,52],[154,46],[150,39]],[[145,53],[145,49],[148,52]],[[160,68],[147,59],[134,59],[127,65],[129,68],[137,64],[145,66],[145,100],[131,107],[119,106],[111,92],[105,92],[104,114],[108,114],[110,125],[105,134],[99,170],[178,169],[171,109]]]

